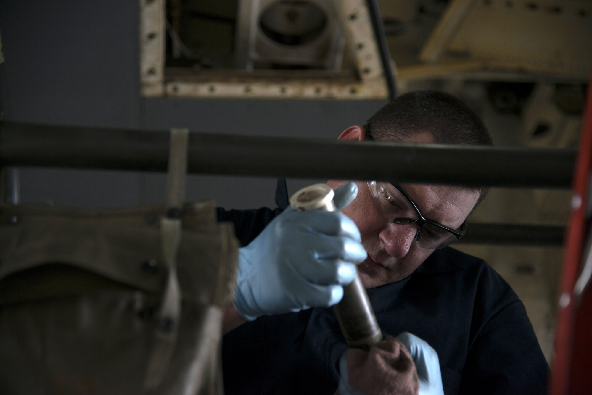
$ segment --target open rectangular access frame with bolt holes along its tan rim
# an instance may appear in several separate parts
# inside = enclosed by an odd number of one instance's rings
[[[234,67],[208,69],[168,64],[171,43],[177,56],[189,51],[172,14],[186,2],[139,4],[144,97],[359,100],[394,92],[375,0],[238,0]]]

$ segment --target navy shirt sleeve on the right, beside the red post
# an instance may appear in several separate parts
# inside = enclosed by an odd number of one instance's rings
[[[493,269],[480,276],[460,394],[546,394],[549,367],[523,303]]]

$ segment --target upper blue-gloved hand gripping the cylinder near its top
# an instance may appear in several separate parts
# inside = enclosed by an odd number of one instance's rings
[[[335,190],[337,210],[355,199],[350,182]],[[366,259],[358,227],[340,212],[286,209],[239,249],[233,305],[247,320],[261,315],[329,307]]]

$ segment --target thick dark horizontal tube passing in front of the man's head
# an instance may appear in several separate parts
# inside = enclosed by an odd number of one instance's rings
[[[168,131],[0,124],[0,166],[166,171]],[[191,173],[568,188],[576,150],[192,133]]]

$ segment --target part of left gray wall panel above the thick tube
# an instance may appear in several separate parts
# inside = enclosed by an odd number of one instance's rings
[[[11,120],[137,127],[137,8],[118,0],[3,1]]]

